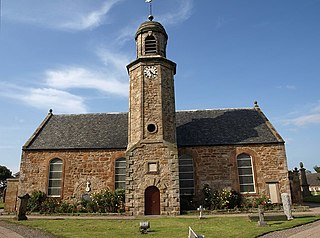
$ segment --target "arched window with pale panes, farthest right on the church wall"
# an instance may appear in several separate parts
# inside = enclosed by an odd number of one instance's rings
[[[248,154],[240,154],[237,157],[238,174],[241,193],[254,193],[254,174],[252,158]]]

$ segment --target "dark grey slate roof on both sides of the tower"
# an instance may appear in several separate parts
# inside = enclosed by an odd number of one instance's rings
[[[23,149],[125,149],[127,117],[127,113],[49,113]],[[284,143],[260,109],[178,111],[176,124],[179,147]]]

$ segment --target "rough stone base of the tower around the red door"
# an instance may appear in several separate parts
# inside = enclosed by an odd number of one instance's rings
[[[129,215],[145,214],[145,190],[160,190],[160,215],[180,214],[177,149],[172,144],[145,143],[127,152],[126,209]],[[156,172],[148,163],[156,163]]]

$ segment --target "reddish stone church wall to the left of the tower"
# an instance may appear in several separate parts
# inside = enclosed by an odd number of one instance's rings
[[[115,160],[124,157],[121,150],[24,151],[20,167],[19,194],[35,190],[47,193],[50,161],[63,161],[61,198],[80,199],[90,182],[91,192],[114,189]]]

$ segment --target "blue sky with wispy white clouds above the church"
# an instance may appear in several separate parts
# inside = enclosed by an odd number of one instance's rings
[[[128,110],[126,65],[144,0],[1,0],[0,164],[49,109]],[[176,108],[259,106],[286,141],[288,166],[320,165],[319,0],[154,0],[177,63]]]

